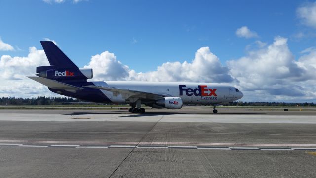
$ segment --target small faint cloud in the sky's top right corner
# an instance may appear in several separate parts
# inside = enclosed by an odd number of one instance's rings
[[[297,16],[306,26],[316,28],[316,2],[306,2],[296,10]]]

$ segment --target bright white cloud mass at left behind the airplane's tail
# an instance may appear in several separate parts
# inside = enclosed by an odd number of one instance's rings
[[[0,97],[57,96],[47,87],[28,79],[34,76],[37,66],[49,65],[44,50],[29,48],[26,57],[3,55],[0,59]]]

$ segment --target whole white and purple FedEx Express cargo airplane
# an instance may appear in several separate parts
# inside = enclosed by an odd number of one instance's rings
[[[128,82],[92,79],[92,69],[78,68],[53,42],[40,41],[50,66],[37,67],[29,77],[52,92],[99,103],[130,104],[129,112],[145,113],[141,104],[153,108],[180,109],[183,104],[228,103],[243,97],[235,87],[192,82]]]

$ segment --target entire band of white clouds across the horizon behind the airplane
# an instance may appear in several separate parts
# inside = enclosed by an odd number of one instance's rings
[[[84,66],[93,68],[93,80],[187,81],[229,83],[241,89],[243,101],[315,102],[316,48],[302,51],[295,60],[287,39],[276,37],[272,44],[254,42],[257,48],[223,66],[209,47],[197,50],[192,61],[166,62],[157,70],[136,72],[109,51],[91,57]],[[0,96],[31,97],[55,95],[25,76],[34,75],[36,66],[48,65],[43,50],[31,47],[27,57],[1,56]],[[23,80],[18,80],[23,79]]]

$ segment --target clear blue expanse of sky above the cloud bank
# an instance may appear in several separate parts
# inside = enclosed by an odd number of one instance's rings
[[[254,39],[238,38],[247,26],[272,42],[289,38],[296,56],[315,45],[297,39],[306,31],[296,16],[298,0],[88,0],[45,3],[41,0],[0,0],[0,37],[22,51],[0,55],[25,56],[40,40],[55,40],[67,55],[83,66],[92,55],[108,50],[138,72],[155,70],[167,61],[191,61],[198,48],[209,46],[223,64],[245,54]]]

